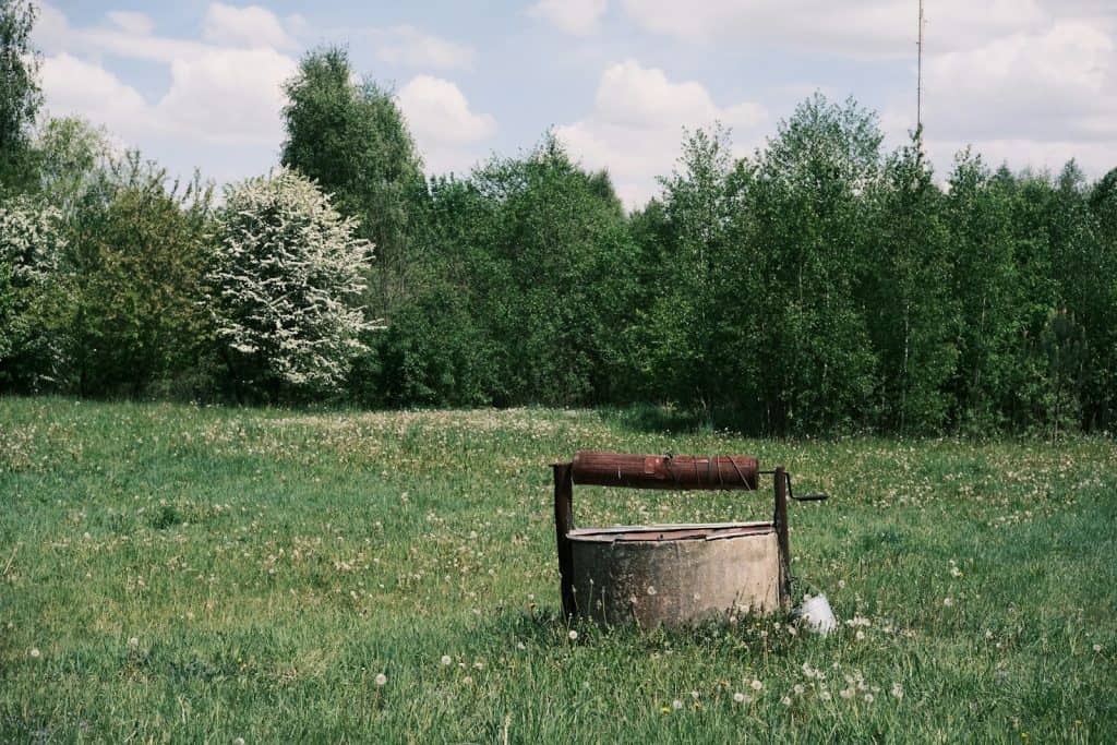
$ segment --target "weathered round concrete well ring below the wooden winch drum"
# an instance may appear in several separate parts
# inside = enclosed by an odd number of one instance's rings
[[[687,537],[672,537],[680,535]],[[771,524],[603,528],[569,537],[576,612],[599,623],[686,625],[780,606]]]

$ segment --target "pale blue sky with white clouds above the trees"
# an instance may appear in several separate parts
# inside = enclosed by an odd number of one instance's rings
[[[918,0],[261,0],[37,2],[50,115],[79,115],[171,173],[266,173],[283,82],[347,47],[395,92],[430,173],[467,173],[552,130],[636,208],[686,130],[720,122],[750,155],[814,92],[916,121]],[[1117,0],[925,0],[923,123],[939,178],[991,165],[1089,178],[1117,166]]]

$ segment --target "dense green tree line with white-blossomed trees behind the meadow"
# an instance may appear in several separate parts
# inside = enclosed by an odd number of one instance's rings
[[[1107,430],[1117,169],[945,178],[814,95],[748,157],[687,133],[658,197],[550,134],[427,178],[344,49],[287,82],[269,173],[188,183],[39,116],[0,4],[0,391],[360,407],[670,403],[757,433]]]

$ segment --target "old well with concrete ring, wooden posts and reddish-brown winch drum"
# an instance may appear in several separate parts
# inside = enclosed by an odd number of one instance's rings
[[[688,625],[790,604],[787,494],[774,476],[772,522],[574,528],[573,485],[755,490],[755,458],[579,452],[555,464],[564,615],[604,624]]]

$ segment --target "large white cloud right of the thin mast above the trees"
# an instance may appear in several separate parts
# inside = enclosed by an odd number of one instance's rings
[[[1076,157],[1096,178],[1117,164],[1117,44],[1104,21],[1057,21],[932,56],[924,89],[927,149],[942,172],[966,144],[1016,169]],[[911,126],[910,108],[886,112],[891,137]]]

